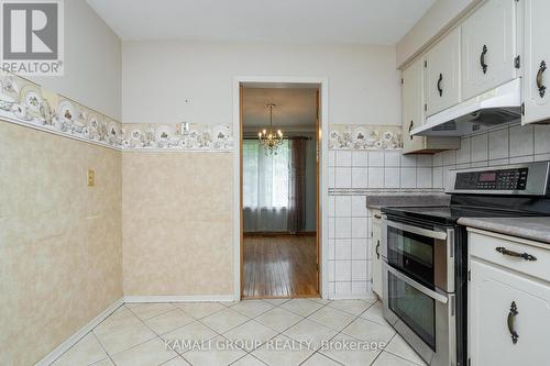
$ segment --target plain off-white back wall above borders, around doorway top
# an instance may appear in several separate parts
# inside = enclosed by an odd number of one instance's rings
[[[330,123],[399,124],[394,47],[184,41],[122,44],[122,120],[231,124],[234,76],[328,77]]]

